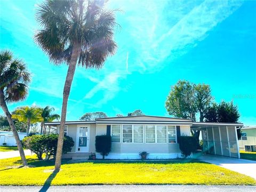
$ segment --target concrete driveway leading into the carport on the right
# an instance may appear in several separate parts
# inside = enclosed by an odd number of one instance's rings
[[[202,155],[198,160],[215,164],[231,171],[236,171],[256,179],[256,161],[224,157],[218,155]]]

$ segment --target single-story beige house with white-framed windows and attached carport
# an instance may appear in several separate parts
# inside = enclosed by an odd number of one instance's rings
[[[55,126],[60,122],[47,122]],[[190,119],[127,116],[98,118],[94,121],[68,121],[65,134],[73,138],[75,146],[63,158],[87,158],[95,153],[95,136],[111,135],[109,159],[138,159],[140,151],[147,151],[149,158],[167,159],[182,157],[177,138],[190,135],[190,129],[202,130],[204,149],[207,153],[239,158],[236,123],[204,123]],[[97,158],[100,158],[97,154]]]

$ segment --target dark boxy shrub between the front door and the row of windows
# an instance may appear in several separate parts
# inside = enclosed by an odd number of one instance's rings
[[[98,135],[95,140],[95,148],[98,153],[102,155],[102,159],[111,151],[111,136],[110,135]]]

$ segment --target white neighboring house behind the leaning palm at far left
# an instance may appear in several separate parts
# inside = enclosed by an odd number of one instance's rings
[[[27,133],[19,132],[19,138],[22,140],[26,137]],[[0,146],[3,146],[3,143],[6,143],[6,146],[17,146],[13,133],[11,131],[0,131]]]

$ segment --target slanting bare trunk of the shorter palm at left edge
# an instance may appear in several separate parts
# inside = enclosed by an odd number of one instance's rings
[[[27,163],[27,159],[26,159],[26,157],[25,157],[25,153],[24,153],[23,148],[22,148],[22,145],[21,145],[21,141],[20,141],[20,138],[19,138],[19,134],[18,134],[18,132],[17,132],[17,130],[16,130],[16,127],[15,127],[13,121],[12,121],[11,114],[10,114],[8,108],[7,108],[6,103],[5,103],[5,100],[4,100],[4,93],[3,93],[2,90],[0,91],[0,106],[1,106],[1,108],[3,109],[3,111],[4,111],[4,113],[5,113],[6,117],[7,117],[7,121],[9,122],[9,125],[10,125],[10,127],[11,127],[11,131],[13,132],[14,139],[15,139],[15,141],[16,141],[16,143],[17,143],[17,147],[18,147],[18,149],[19,149],[19,153],[20,153],[20,157],[21,157],[22,164],[23,164],[24,166],[27,166],[28,163]]]

